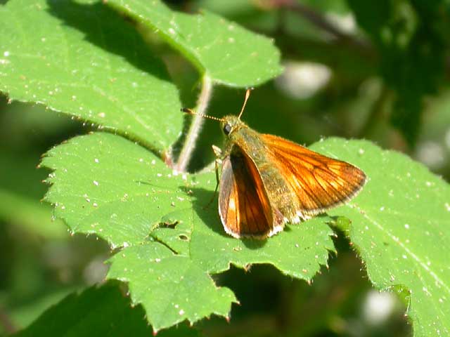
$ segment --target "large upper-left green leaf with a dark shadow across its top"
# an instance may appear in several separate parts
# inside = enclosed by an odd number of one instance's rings
[[[178,92],[132,25],[94,1],[0,6],[0,91],[167,151],[181,130]]]

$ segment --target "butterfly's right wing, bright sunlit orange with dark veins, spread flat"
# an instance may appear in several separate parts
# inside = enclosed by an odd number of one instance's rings
[[[300,201],[300,213],[314,216],[352,199],[366,175],[356,166],[332,159],[284,138],[263,134],[269,159]],[[304,217],[306,218],[306,217]]]

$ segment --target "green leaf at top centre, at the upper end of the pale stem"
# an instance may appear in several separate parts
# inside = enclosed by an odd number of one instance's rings
[[[156,0],[107,4],[158,32],[217,83],[256,86],[281,73],[280,53],[272,41],[213,13],[179,13]]]

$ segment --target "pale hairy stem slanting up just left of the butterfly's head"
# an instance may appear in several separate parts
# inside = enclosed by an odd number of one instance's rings
[[[198,114],[205,114],[208,104],[210,103],[212,93],[212,81],[210,77],[205,74],[202,80],[202,91],[198,96],[197,106],[195,107],[195,112]],[[176,163],[174,169],[179,172],[185,172],[189,161],[191,160],[193,150],[195,148],[195,142],[198,138],[198,134],[202,129],[203,122],[205,118],[202,116],[194,114],[191,126],[189,127],[188,134],[186,136],[186,141],[184,142],[183,148],[181,149],[180,155],[178,157],[178,162]]]

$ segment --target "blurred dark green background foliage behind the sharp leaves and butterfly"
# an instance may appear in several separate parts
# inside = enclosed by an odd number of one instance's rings
[[[166,2],[188,13],[214,11],[275,39],[285,72],[252,92],[243,115],[252,128],[307,145],[328,136],[366,138],[449,181],[449,1]],[[165,60],[184,105],[193,107],[198,74],[142,33]],[[216,87],[207,112],[236,114],[243,96],[243,90]],[[48,174],[37,169],[41,154],[89,130],[0,95],[2,332],[27,326],[68,293],[103,280],[107,244],[70,236],[40,202]],[[205,121],[191,171],[210,164],[211,145],[221,142],[217,122]],[[371,289],[344,235],[334,240],[338,255],[331,254],[329,267],[311,285],[264,265],[218,275],[217,283],[233,289],[241,305],[233,306],[230,323],[213,317],[198,326],[206,336],[410,336],[405,303]]]

